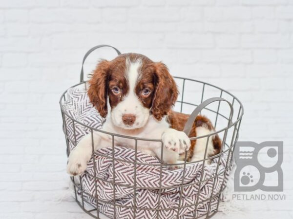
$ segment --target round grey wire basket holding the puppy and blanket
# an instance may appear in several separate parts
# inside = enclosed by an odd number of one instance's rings
[[[100,48],[100,47],[104,47],[107,45],[100,45],[100,46],[96,46],[94,48],[92,48],[91,50],[89,50],[86,55],[84,56],[84,60],[83,60],[83,65],[84,65],[84,61],[86,59],[86,57],[95,49]],[[107,46],[107,47],[111,47],[111,46]],[[112,47],[113,48],[113,47]],[[114,48],[115,49],[115,48]],[[120,55],[120,52],[115,49],[116,52],[118,53],[118,55]],[[82,65],[82,66],[83,66]],[[84,87],[84,89],[86,90],[87,88],[87,84],[86,81],[84,81],[84,70],[82,67],[82,71],[81,71],[81,82],[79,84],[76,84],[73,87]],[[214,124],[214,127],[216,129],[216,131],[214,133],[211,133],[209,135],[205,135],[205,136],[197,136],[197,137],[192,137],[190,138],[190,140],[196,140],[196,139],[200,139],[200,138],[211,138],[213,135],[218,134],[220,136],[220,138],[222,139],[222,148],[220,153],[212,156],[212,157],[208,157],[207,156],[207,146],[206,146],[206,151],[205,151],[205,157],[203,160],[201,161],[196,161],[196,162],[187,162],[186,161],[186,157],[185,156],[185,162],[181,164],[181,167],[183,169],[183,179],[182,179],[182,183],[180,185],[177,186],[177,188],[180,190],[180,199],[179,199],[179,204],[177,207],[173,207],[172,210],[174,210],[176,212],[176,214],[173,216],[173,218],[176,219],[181,219],[184,217],[180,217],[179,216],[179,212],[181,210],[184,210],[184,208],[186,207],[193,207],[193,214],[192,216],[188,216],[188,218],[201,218],[201,217],[205,217],[205,218],[210,218],[212,217],[217,211],[218,211],[218,207],[219,207],[219,203],[221,201],[221,194],[223,192],[223,190],[226,187],[226,182],[227,182],[227,178],[229,176],[229,172],[230,169],[232,168],[234,162],[233,162],[233,152],[234,152],[234,146],[235,143],[238,140],[238,133],[239,133],[239,128],[240,128],[240,124],[241,124],[241,119],[243,116],[243,106],[241,104],[241,102],[234,96],[232,95],[230,92],[225,91],[217,86],[211,85],[209,83],[205,83],[205,82],[201,82],[198,80],[193,80],[193,79],[189,79],[189,78],[183,78],[183,77],[174,77],[179,90],[181,91],[180,96],[176,102],[176,105],[174,107],[174,110],[176,111],[180,111],[180,112],[184,112],[184,113],[191,113],[191,116],[189,117],[189,120],[194,121],[196,115],[198,114],[204,114],[207,115],[209,117],[209,119],[211,120],[211,122]],[[60,99],[60,107],[61,107],[61,112],[62,112],[62,118],[63,118],[63,132],[65,134],[65,140],[66,140],[66,153],[67,153],[67,157],[69,156],[70,150],[72,145],[76,146],[77,145],[77,137],[76,137],[76,126],[77,124],[79,126],[83,126],[84,128],[87,128],[89,130],[89,132],[93,132],[93,131],[97,131],[97,132],[103,132],[105,133],[105,131],[102,131],[100,129],[97,128],[93,128],[90,127],[89,125],[83,124],[81,121],[78,121],[77,119],[74,119],[68,112],[66,112],[64,110],[64,104],[66,102],[66,98],[67,98],[67,92],[68,90],[66,90]],[[223,103],[223,104],[222,104]],[[195,110],[194,110],[195,109]],[[70,137],[68,135],[68,121],[70,121],[70,127],[72,128],[73,132],[74,132],[74,138]],[[191,127],[185,127],[185,131],[188,132]],[[161,199],[161,192],[164,189],[167,189],[167,187],[162,186],[162,169],[166,168],[166,166],[169,165],[173,165],[173,164],[164,164],[164,163],[160,163],[158,164],[159,168],[160,168],[160,180],[159,180],[159,186],[158,187],[154,187],[154,188],[147,188],[147,187],[141,187],[141,186],[137,186],[136,185],[136,166],[139,164],[137,162],[137,153],[138,153],[138,144],[139,141],[153,141],[153,142],[160,142],[161,146],[162,146],[162,156],[163,156],[163,144],[162,144],[162,140],[161,139],[142,139],[142,138],[137,138],[137,137],[130,137],[130,136],[124,136],[124,135],[119,135],[119,134],[115,134],[115,133],[109,133],[107,132],[107,134],[111,135],[112,139],[114,139],[115,137],[125,137],[128,139],[133,139],[135,141],[135,156],[134,156],[134,160],[130,161],[129,164],[133,164],[134,165],[134,169],[133,169],[133,174],[134,174],[134,184],[133,185],[128,185],[127,187],[130,187],[133,189],[133,196],[135,197],[136,193],[141,190],[141,189],[152,189],[157,191],[158,193],[158,203],[160,203],[160,199]],[[207,141],[208,143],[209,141]],[[114,140],[112,141],[112,150],[114,151]],[[96,151],[92,151],[93,156],[93,162],[95,163],[95,155],[97,155]],[[187,154],[187,153],[186,153]],[[99,156],[103,156],[100,153],[98,154]],[[117,158],[115,158],[115,153],[112,153],[112,162],[113,162],[113,166],[114,162],[116,161]],[[219,171],[219,165],[220,165],[220,158],[221,157],[225,157],[225,159],[227,159],[227,162],[225,164],[225,168],[222,171]],[[162,159],[160,159],[162,161]],[[224,180],[220,185],[220,189],[218,192],[214,193],[214,188],[215,188],[215,180],[213,181],[213,185],[212,185],[212,191],[211,191],[211,195],[210,197],[207,197],[205,200],[199,201],[199,193],[200,193],[200,189],[198,189],[198,194],[197,194],[197,198],[196,200],[189,204],[188,206],[182,206],[181,204],[181,200],[182,200],[182,191],[185,188],[185,186],[187,186],[186,183],[184,183],[184,174],[186,172],[186,168],[187,165],[190,164],[196,164],[196,163],[202,163],[202,168],[204,168],[205,164],[207,164],[208,160],[213,160],[214,162],[216,162],[216,169],[215,169],[215,174],[213,176],[213,178],[217,178],[217,177],[223,177]],[[151,164],[144,164],[144,165],[151,165]],[[200,180],[196,183],[198,183],[198,187],[201,188],[201,184],[204,183],[203,180],[203,169],[201,170],[201,174],[200,174]],[[100,219],[101,218],[101,209],[99,207],[99,203],[106,203],[110,206],[112,206],[114,208],[114,212],[113,215],[111,215],[112,218],[116,219],[117,217],[117,213],[115,211],[115,208],[117,207],[121,207],[121,204],[117,203],[117,200],[115,199],[115,186],[121,186],[121,184],[115,182],[115,168],[113,169],[113,174],[114,174],[114,178],[112,181],[109,181],[108,183],[111,183],[113,185],[113,193],[114,193],[114,198],[111,201],[103,201],[100,200],[98,195],[91,195],[91,194],[87,194],[86,191],[84,191],[83,189],[83,183],[81,183],[83,181],[83,177],[85,177],[87,174],[87,172],[85,172],[82,176],[79,177],[71,177],[71,182],[73,183],[73,189],[74,189],[74,197],[76,202],[78,203],[78,205],[84,210],[84,212],[86,212],[87,214],[89,214],[90,216],[96,218],[96,219]],[[97,188],[97,182],[98,180],[103,180],[105,181],[105,179],[102,179],[98,176],[92,176],[94,177],[94,183],[95,183],[95,187]],[[210,179],[205,179],[206,180],[211,180]],[[90,197],[91,199],[95,200],[96,206],[93,206],[92,204],[87,204],[88,199],[85,197]],[[212,200],[216,200],[217,204],[216,207],[211,208],[211,201]],[[206,203],[207,206],[207,211],[204,214],[196,214],[197,212],[197,206],[199,206],[200,203]],[[130,209],[130,211],[132,211],[132,218],[136,218],[136,212],[137,210],[145,210],[145,211],[155,211],[155,218],[160,219],[160,218],[164,218],[162,217],[162,215],[160,214],[161,211],[164,211],[165,209],[160,208],[159,204],[157,205],[157,207],[152,208],[152,209],[148,209],[148,208],[143,208],[140,207],[138,208],[136,206],[136,200],[134,198],[134,202],[131,206],[123,206],[126,207],[128,210]],[[185,218],[184,218],[185,219]]]

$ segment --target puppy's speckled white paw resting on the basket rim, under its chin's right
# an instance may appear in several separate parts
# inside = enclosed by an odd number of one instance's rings
[[[179,154],[188,150],[191,143],[188,136],[183,131],[177,131],[173,128],[168,128],[162,135],[164,146]]]

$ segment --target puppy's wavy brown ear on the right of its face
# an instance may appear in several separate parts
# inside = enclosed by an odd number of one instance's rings
[[[150,112],[157,120],[161,120],[174,106],[178,89],[165,64],[157,62],[154,67],[156,90]]]

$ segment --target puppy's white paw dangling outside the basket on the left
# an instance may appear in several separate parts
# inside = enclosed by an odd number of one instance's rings
[[[81,175],[85,171],[86,165],[87,160],[84,159],[80,151],[75,148],[68,157],[66,171],[70,176]]]

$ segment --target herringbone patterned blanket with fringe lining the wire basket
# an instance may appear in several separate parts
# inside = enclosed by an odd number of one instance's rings
[[[69,89],[63,107],[72,118],[82,124],[93,128],[103,125],[104,119],[89,103],[82,87]],[[68,136],[77,142],[89,132],[89,128],[72,122],[67,116],[65,120]],[[70,142],[70,148],[74,146]],[[127,163],[135,159],[133,149],[116,146],[115,162],[111,158],[112,147],[99,149],[97,152],[100,155],[95,156],[95,163],[93,159],[89,162],[82,176],[84,201],[98,206],[99,211],[110,218],[114,218],[114,214],[117,219],[131,219],[134,216],[136,219],[155,219],[157,214],[160,219],[176,218],[177,214],[180,219],[191,219],[194,216],[197,218],[216,209],[219,201],[217,194],[221,187],[225,187],[229,174],[225,174],[225,180],[224,174],[216,176],[218,159],[204,167],[202,163],[188,164],[185,171],[183,168],[169,170],[163,167],[161,172],[160,166],[156,165],[160,164],[159,159],[138,151],[135,175],[134,164]],[[224,171],[227,156],[222,155],[220,159],[218,174]],[[202,171],[202,183],[199,183]],[[112,182],[117,183],[115,188]],[[182,184],[184,186],[181,188]],[[133,186],[136,187],[135,191]],[[161,192],[158,189],[160,186]],[[113,207],[113,203],[116,207]],[[136,207],[135,212],[131,208],[133,206]],[[181,207],[179,212],[178,206]],[[155,210],[158,208],[162,210]]]

